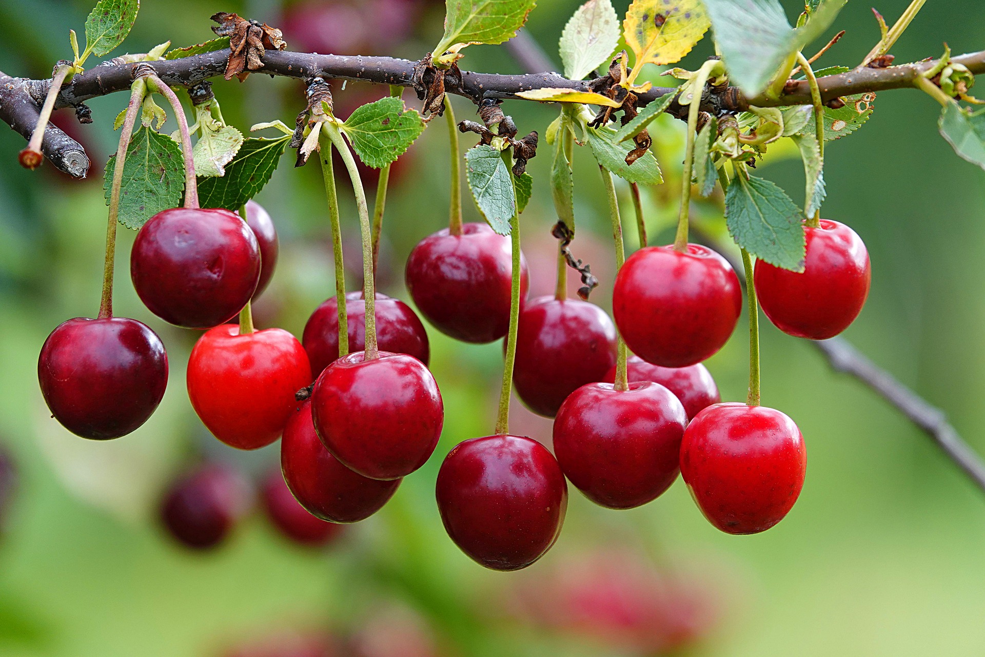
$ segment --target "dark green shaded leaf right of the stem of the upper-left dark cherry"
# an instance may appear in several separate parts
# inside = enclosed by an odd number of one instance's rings
[[[238,210],[270,181],[289,141],[289,135],[276,139],[251,137],[244,140],[236,157],[226,165],[226,175],[198,179],[201,206]]]

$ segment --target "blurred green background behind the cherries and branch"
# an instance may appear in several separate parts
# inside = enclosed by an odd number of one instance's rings
[[[615,4],[622,15],[627,2]],[[878,9],[891,24],[906,4],[882,0]],[[799,3],[784,5],[793,19]],[[575,0],[541,0],[530,16],[529,32],[556,59],[558,35],[576,6]],[[81,33],[91,5],[0,0],[0,8],[0,70],[40,78],[71,54],[68,30]],[[292,49],[416,59],[436,41],[442,10],[439,3],[403,0],[283,6],[277,0],[145,0],[120,51],[144,52],[168,38],[174,45],[206,40],[212,35],[208,17],[234,11],[284,27]],[[854,65],[879,35],[860,0],[847,5],[835,29],[848,33],[824,65]],[[985,11],[976,0],[928,3],[892,52],[903,62],[939,55],[945,41],[954,52],[977,50],[985,47],[983,33]],[[684,65],[695,68],[708,52],[702,43]],[[508,52],[493,46],[469,48],[463,67],[519,72]],[[382,94],[348,87],[337,94],[343,117],[351,110],[345,102]],[[275,118],[292,123],[301,106],[296,81],[254,75],[245,84],[217,81],[215,90],[227,119],[244,131]],[[433,486],[452,445],[491,431],[501,352],[498,345],[454,343],[428,327],[431,366],[445,402],[444,433],[427,465],[380,513],[324,550],[291,544],[260,511],[216,551],[192,554],[177,546],[157,522],[158,502],[190,459],[229,462],[257,480],[277,467],[278,447],[233,453],[201,426],[184,391],[184,364],[197,334],[164,325],[134,295],[127,275],[131,231],[120,230],[116,311],[148,323],[164,339],[171,373],[162,407],[129,436],[91,442],[48,418],[36,383],[35,361],[48,332],[98,308],[106,212],[101,170],[115,150],[112,117],[124,97],[93,100],[93,125],[79,126],[68,110],[59,112],[65,114],[59,124],[70,126],[93,158],[84,182],[49,164],[34,172],[21,168],[15,156],[23,140],[0,131],[0,153],[7,157],[0,166],[0,443],[19,473],[0,541],[0,654],[190,657],[233,654],[235,646],[267,641],[281,649],[297,636],[316,637],[319,645],[329,640],[324,637],[339,637],[345,650],[370,657],[985,650],[981,493],[881,399],[831,373],[811,345],[764,319],[763,403],[798,423],[810,454],[799,502],[764,534],[719,533],[681,482],[623,512],[596,507],[571,489],[564,531],[551,553],[520,573],[484,570],[445,536]],[[416,101],[411,92],[404,98]],[[459,118],[474,117],[466,100],[455,99],[455,107]],[[504,107],[521,133],[543,135],[557,113],[530,102]],[[857,230],[873,262],[868,305],[845,335],[944,408],[958,431],[985,451],[983,174],[937,134],[939,106],[932,99],[887,92],[875,107],[857,134],[826,151],[823,215]],[[380,285],[405,299],[406,255],[447,221],[442,123],[395,165],[388,197]],[[655,132],[665,177],[673,180],[682,125],[668,119]],[[472,143],[463,137],[463,149]],[[590,158],[575,158],[579,232],[572,248],[600,275],[593,300],[608,307],[613,265],[605,198]],[[778,160],[760,174],[800,202],[800,163]],[[307,315],[334,287],[320,172],[317,164],[294,169],[293,161],[284,158],[257,199],[274,217],[282,254],[256,315],[262,327],[276,324],[299,336]],[[530,164],[534,199],[521,220],[534,270],[532,295],[553,286],[549,163],[542,153]],[[651,243],[672,238],[677,188],[669,182],[645,190]],[[625,197],[627,189],[620,193]],[[355,206],[344,186],[342,195],[352,266]],[[623,201],[627,245],[635,248],[630,206]],[[468,197],[466,211],[476,221]],[[720,224],[713,204],[697,214],[712,229]],[[354,272],[349,289],[358,285]],[[745,398],[747,350],[744,319],[708,363],[725,400]],[[518,404],[512,420],[514,432],[549,439],[550,423]],[[319,650],[249,654],[343,654]]]

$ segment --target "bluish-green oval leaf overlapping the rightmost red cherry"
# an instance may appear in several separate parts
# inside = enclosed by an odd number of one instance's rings
[[[725,221],[736,243],[771,265],[804,271],[804,216],[769,180],[739,173],[725,194]]]

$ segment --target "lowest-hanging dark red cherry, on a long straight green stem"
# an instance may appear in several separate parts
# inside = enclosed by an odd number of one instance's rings
[[[441,522],[462,552],[493,570],[519,570],[558,540],[567,484],[541,443],[488,435],[455,446],[435,494]]]

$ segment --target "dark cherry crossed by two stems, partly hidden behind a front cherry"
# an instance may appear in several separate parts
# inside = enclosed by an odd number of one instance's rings
[[[366,304],[361,292],[346,295],[349,353],[365,349]],[[301,344],[315,377],[339,358],[339,306],[333,296],[322,302],[304,325]],[[399,298],[376,295],[376,344],[380,351],[408,354],[427,365],[430,346],[417,313]]]

